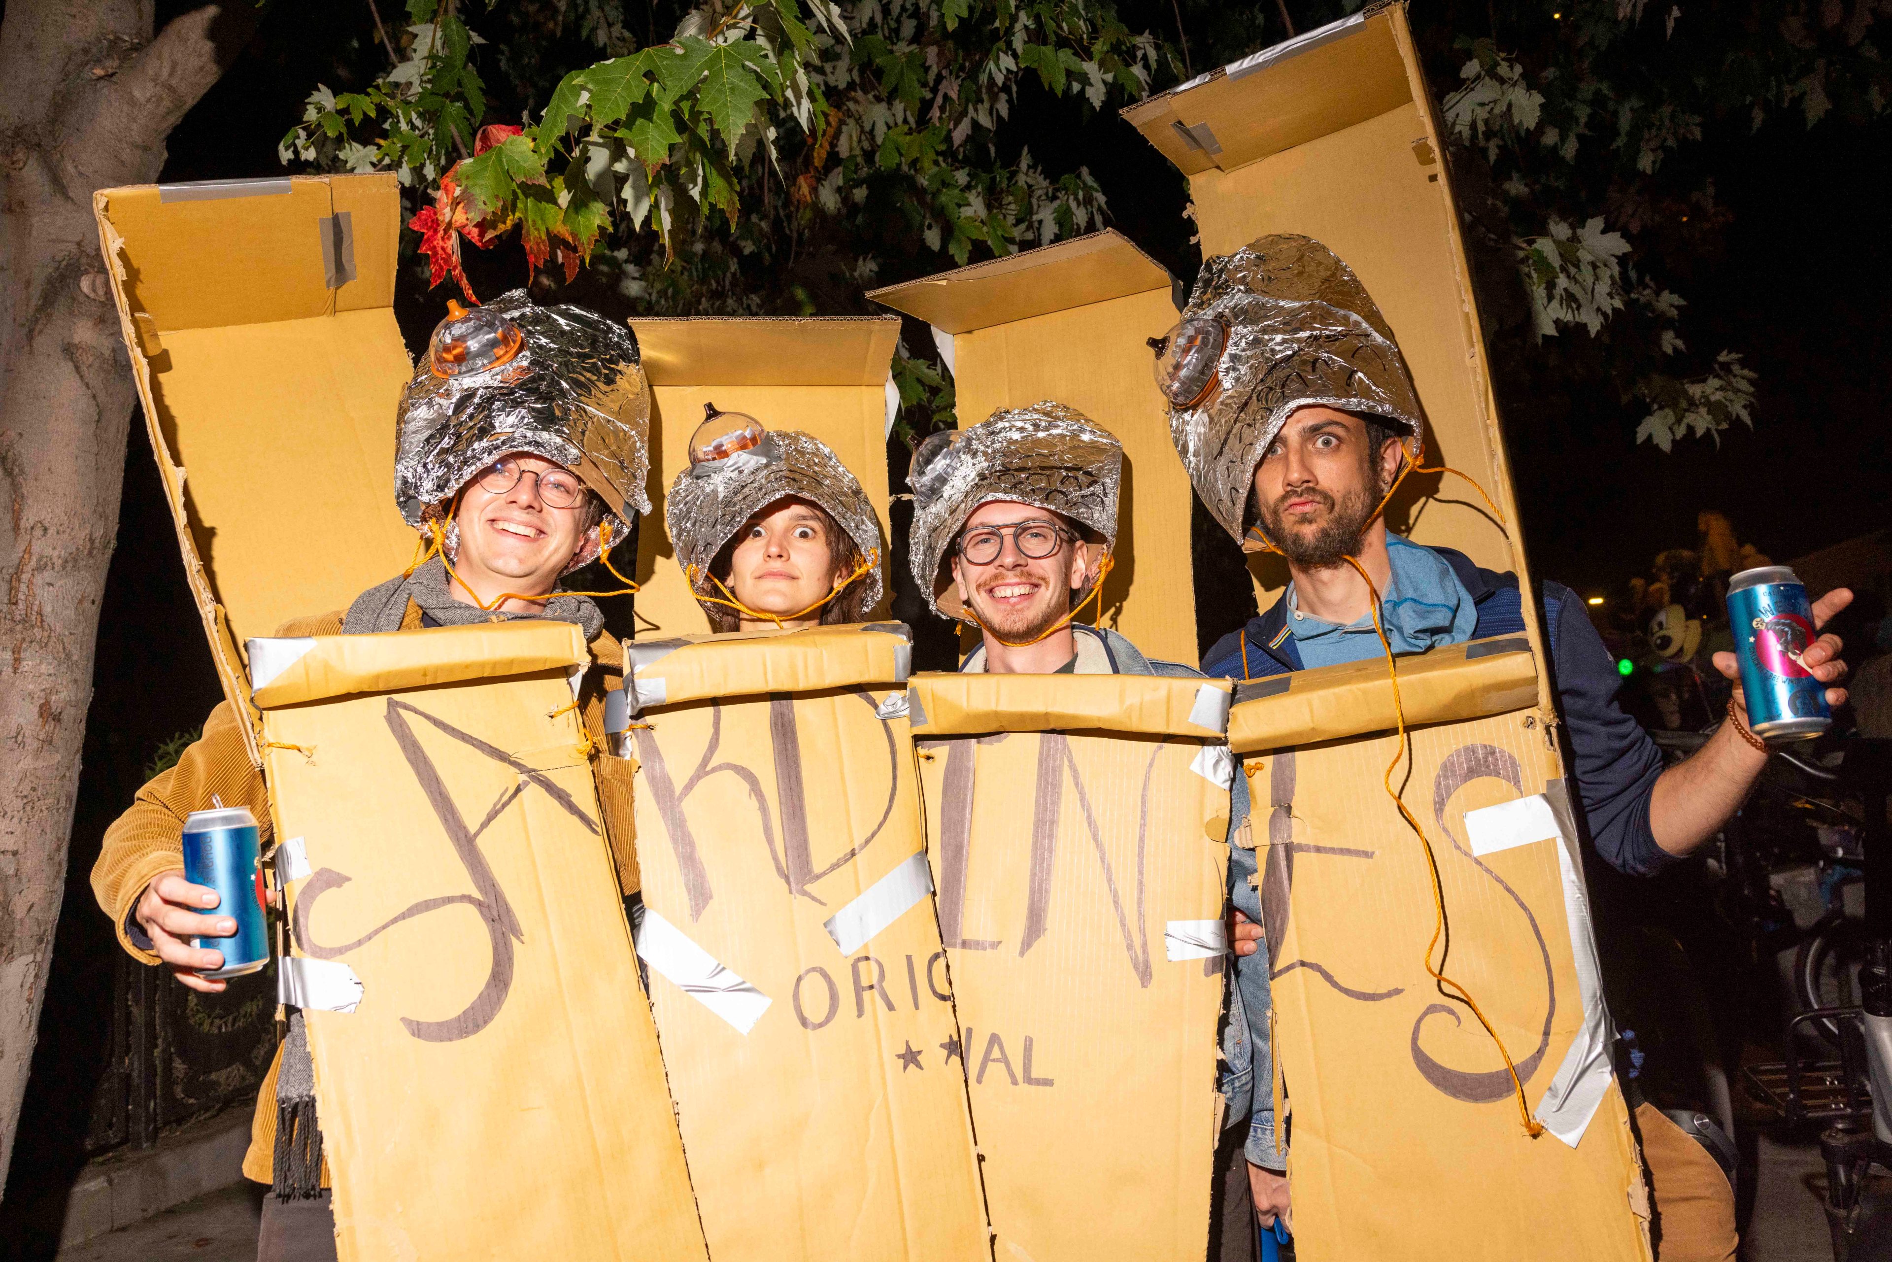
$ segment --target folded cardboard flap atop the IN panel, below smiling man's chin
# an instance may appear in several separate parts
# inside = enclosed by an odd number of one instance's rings
[[[1228,692],[1224,679],[923,672],[906,685],[906,702],[916,738],[1143,732],[1220,740]]]

